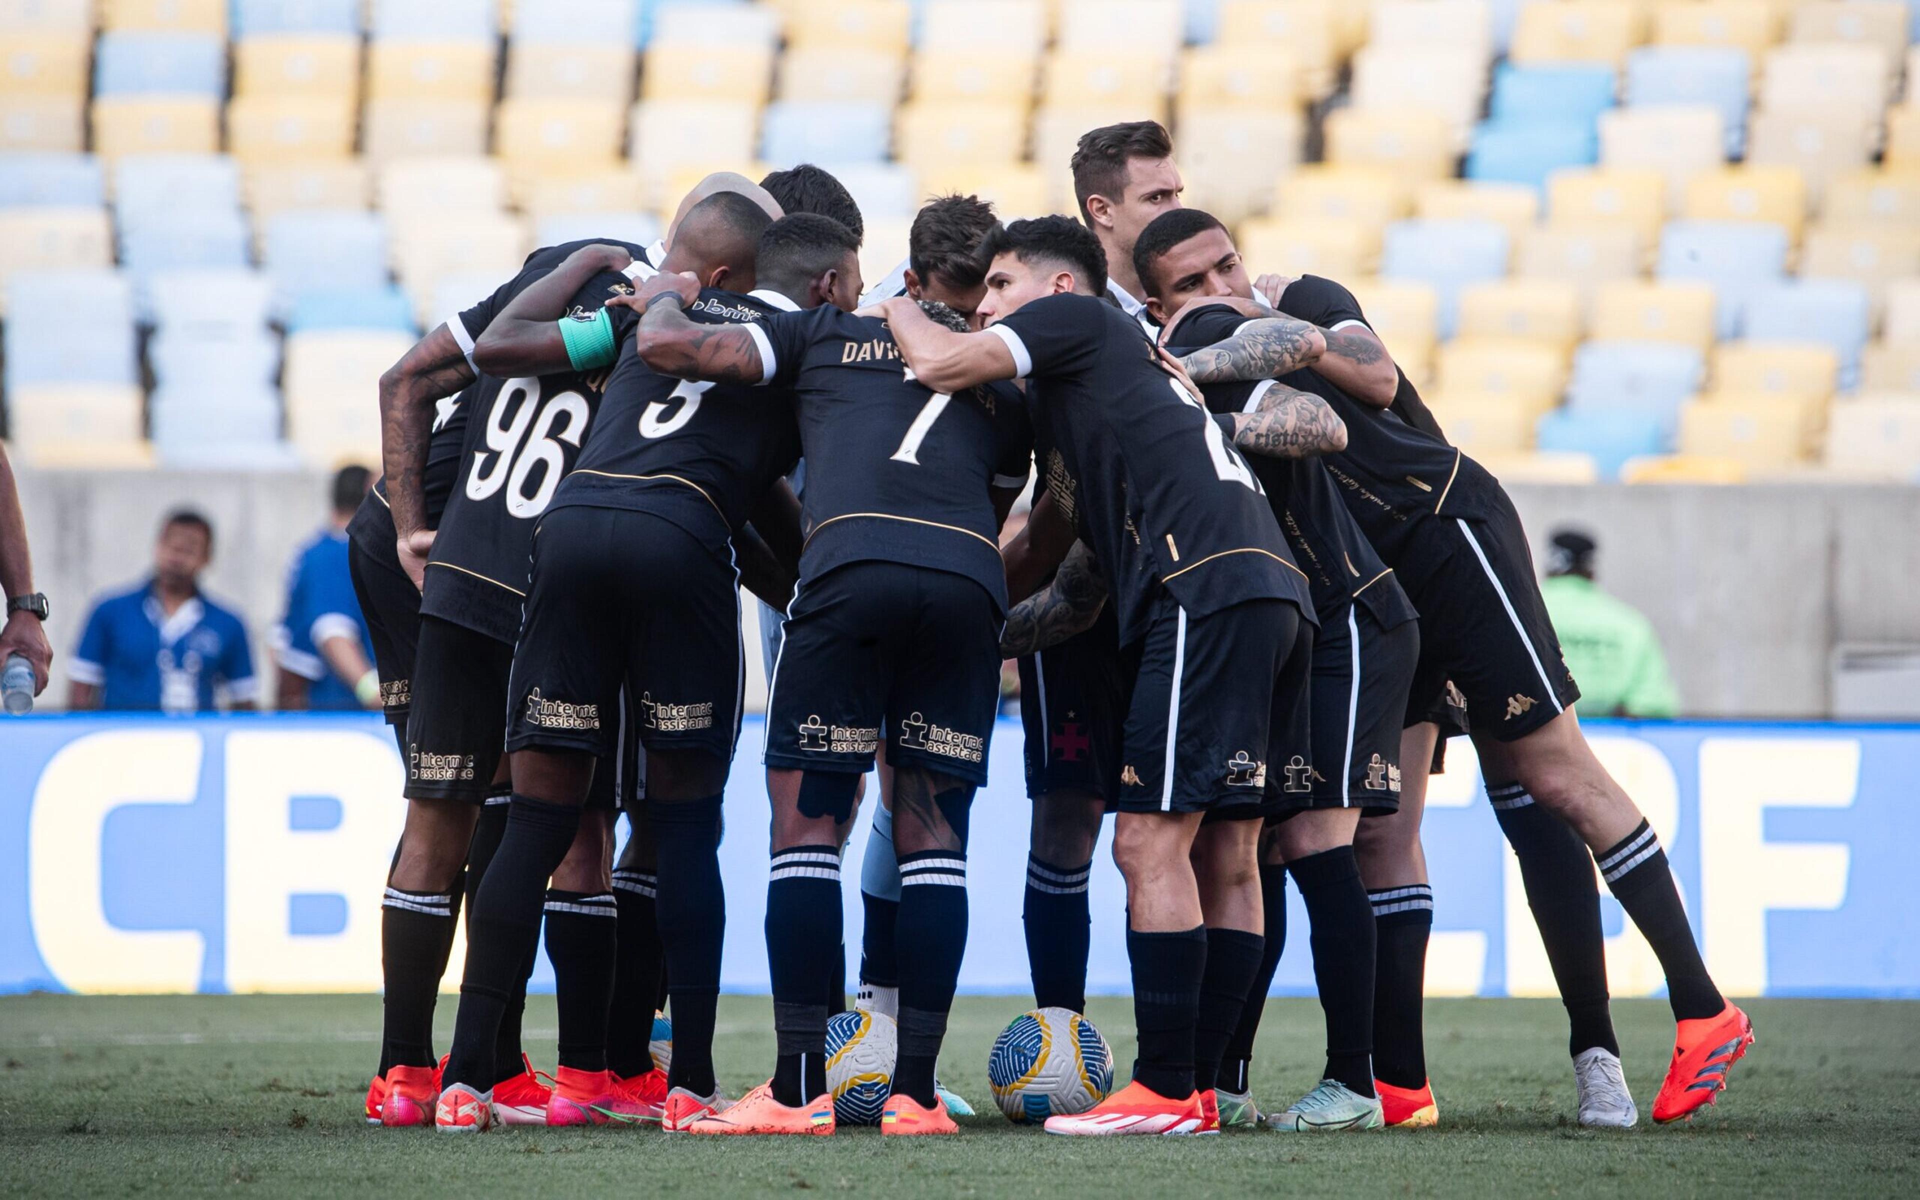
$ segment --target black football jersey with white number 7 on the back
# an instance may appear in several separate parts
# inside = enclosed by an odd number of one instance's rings
[[[864,559],[910,563],[975,580],[1004,611],[989,488],[1027,482],[1025,405],[998,388],[935,394],[906,371],[879,317],[824,305],[755,328],[766,338],[762,382],[799,401],[801,580]]]

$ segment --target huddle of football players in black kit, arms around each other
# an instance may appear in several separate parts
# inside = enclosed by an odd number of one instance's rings
[[[1726,1085],[1751,1023],[1580,733],[1505,492],[1448,445],[1346,288],[1252,278],[1227,228],[1181,205],[1160,125],[1092,131],[1071,167],[1079,221],[933,200],[899,278],[866,298],[860,211],[831,175],[714,175],[660,244],[538,250],[382,376],[386,480],[351,526],[353,578],[409,806],[369,1121],[833,1133],[841,856],[877,755],[858,1002],[899,1029],[881,1133],[958,1133],[935,1064],[1006,657],[1041,1006],[1085,1010],[1108,812],[1127,883],[1133,1079],[1048,1133],[1438,1119],[1419,822],[1442,732],[1473,737],[1519,854],[1580,1121],[1638,1119],[1594,864],[1678,1021],[1653,1119]],[[778,1060],[730,1100],[712,1037],[741,586],[785,612],[764,743]],[[1248,1066],[1286,876],[1327,1066],[1261,1116]],[[551,1077],[520,1052],[541,920]],[[668,1069],[649,1052],[657,1004]]]

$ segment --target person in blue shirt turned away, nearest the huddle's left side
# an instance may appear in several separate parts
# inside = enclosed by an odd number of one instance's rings
[[[286,582],[286,616],[273,630],[280,666],[276,708],[338,712],[380,707],[372,637],[348,570],[348,522],[372,472],[342,467],[334,474],[332,520],[294,555]]]

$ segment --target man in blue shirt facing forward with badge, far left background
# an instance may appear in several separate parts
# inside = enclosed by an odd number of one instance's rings
[[[253,708],[259,682],[246,622],[200,591],[213,526],[192,509],[169,513],[154,574],[94,603],[67,664],[67,707],[184,716]]]

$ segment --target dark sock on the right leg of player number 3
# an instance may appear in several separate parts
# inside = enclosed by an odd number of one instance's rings
[[[660,843],[659,937],[666,945],[666,977],[674,998],[674,1066],[666,1083],[695,1096],[710,1096],[714,1010],[720,1002],[720,950],[726,937],[720,797],[655,804],[653,833]]]

